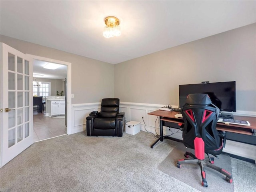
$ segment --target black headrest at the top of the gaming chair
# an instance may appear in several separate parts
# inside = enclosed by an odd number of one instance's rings
[[[186,104],[189,105],[210,105],[212,101],[208,94],[197,93],[189,94],[186,99]]]

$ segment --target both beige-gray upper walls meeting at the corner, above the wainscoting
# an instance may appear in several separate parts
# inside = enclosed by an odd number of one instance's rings
[[[256,111],[256,24],[112,65],[7,36],[21,52],[72,63],[73,104],[122,102],[178,105],[178,85],[236,81],[237,110]]]

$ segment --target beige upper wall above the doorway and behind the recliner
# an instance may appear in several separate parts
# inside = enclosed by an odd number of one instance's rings
[[[114,97],[113,64],[3,35],[0,42],[26,54],[72,63],[72,104],[101,102],[102,98]]]

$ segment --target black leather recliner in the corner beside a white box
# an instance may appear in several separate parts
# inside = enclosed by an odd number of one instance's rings
[[[86,117],[88,136],[123,136],[124,113],[119,113],[119,102],[118,98],[102,99],[101,111]]]

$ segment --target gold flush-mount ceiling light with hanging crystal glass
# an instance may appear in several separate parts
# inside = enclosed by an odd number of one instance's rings
[[[103,36],[106,38],[120,36],[120,26],[119,26],[119,19],[114,16],[109,16],[105,18],[105,24]]]

